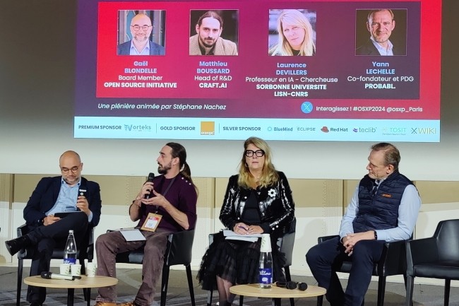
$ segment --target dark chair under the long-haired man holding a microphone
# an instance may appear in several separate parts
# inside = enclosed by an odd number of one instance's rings
[[[191,257],[194,240],[194,230],[183,230],[181,232],[169,234],[167,237],[167,249],[162,266],[161,281],[161,306],[166,305],[167,284],[169,283],[169,268],[177,264],[183,264],[186,268],[186,278],[190,290],[191,305],[196,306],[194,301],[193,279],[191,276]],[[126,264],[142,264],[143,248],[135,251],[117,254],[117,262]]]

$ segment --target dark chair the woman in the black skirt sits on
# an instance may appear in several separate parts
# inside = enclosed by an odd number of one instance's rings
[[[292,281],[292,276],[290,276],[290,266],[292,266],[292,254],[293,254],[293,245],[295,241],[295,228],[297,225],[297,219],[295,218],[292,223],[290,223],[290,230],[288,233],[283,235],[278,239],[278,247],[280,252],[285,254],[285,278],[287,281]],[[209,235],[209,245],[213,242],[213,235]],[[209,290],[207,295],[207,306],[212,304],[213,291]],[[244,296],[239,296],[239,305],[244,305]],[[294,306],[294,299],[290,298],[290,305]]]

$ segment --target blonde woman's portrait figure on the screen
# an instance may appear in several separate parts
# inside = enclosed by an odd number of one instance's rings
[[[316,54],[314,31],[304,13],[283,10],[277,21],[278,42],[270,47],[272,56],[312,56]]]

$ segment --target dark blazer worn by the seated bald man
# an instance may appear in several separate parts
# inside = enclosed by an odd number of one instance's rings
[[[88,181],[81,177],[81,189],[86,189],[89,209],[93,212],[93,220],[90,225],[96,226],[100,220],[100,187],[96,182]],[[56,204],[57,196],[61,190],[61,176],[43,177],[32,192],[27,205],[24,208],[24,219],[29,227],[37,227],[46,216],[45,213]]]

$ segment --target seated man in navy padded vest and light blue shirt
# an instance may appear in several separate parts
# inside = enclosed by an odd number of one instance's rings
[[[398,172],[400,153],[391,143],[371,147],[368,175],[355,189],[340,227],[340,235],[306,254],[318,286],[326,288],[331,306],[361,306],[374,262],[384,242],[407,240],[415,228],[421,199],[416,187]],[[333,266],[352,260],[344,292]]]

